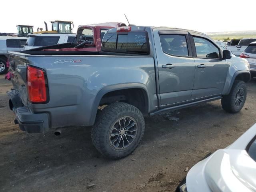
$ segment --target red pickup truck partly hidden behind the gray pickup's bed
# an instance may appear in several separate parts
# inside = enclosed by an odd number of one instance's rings
[[[104,34],[108,29],[126,26],[124,23],[107,22],[92,25],[80,25],[76,33],[76,42],[67,43],[61,48],[47,47],[47,51],[100,51],[101,42]],[[38,48],[36,50],[39,50]]]

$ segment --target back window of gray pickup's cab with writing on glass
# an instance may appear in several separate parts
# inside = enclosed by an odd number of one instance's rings
[[[102,51],[131,54],[149,54],[147,33],[128,32],[124,34],[108,33],[102,40]]]

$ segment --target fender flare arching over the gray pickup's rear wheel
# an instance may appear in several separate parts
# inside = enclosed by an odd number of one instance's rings
[[[104,86],[102,89],[100,89],[94,99],[94,102],[92,104],[92,112],[90,117],[90,125],[93,125],[96,119],[96,114],[98,110],[98,106],[100,104],[100,100],[102,97],[112,91],[116,90],[124,90],[124,89],[132,89],[132,88],[140,88],[143,89],[146,92],[146,96],[148,98],[148,113],[150,110],[150,103],[149,103],[149,94],[146,86],[142,83],[122,83],[122,84],[114,84],[109,86]]]

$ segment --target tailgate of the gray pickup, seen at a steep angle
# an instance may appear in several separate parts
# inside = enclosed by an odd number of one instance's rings
[[[8,52],[10,60],[10,72],[13,88],[18,91],[18,94],[23,102],[27,103],[26,90],[26,54],[20,52]]]

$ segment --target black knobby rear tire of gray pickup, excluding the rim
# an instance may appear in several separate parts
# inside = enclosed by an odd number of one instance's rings
[[[117,150],[113,148],[110,142],[110,131],[116,121],[126,116],[135,120],[137,133],[129,146]],[[95,124],[92,126],[92,142],[103,156],[120,159],[131,154],[137,148],[144,134],[144,129],[144,117],[138,108],[127,103],[116,102],[109,104],[102,112],[97,113]]]

